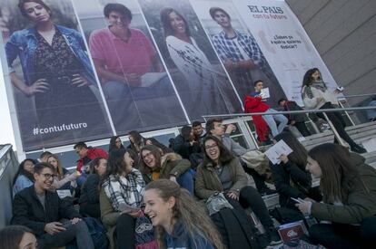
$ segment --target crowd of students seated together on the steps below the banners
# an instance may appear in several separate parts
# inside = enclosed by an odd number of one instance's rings
[[[108,153],[77,143],[73,174],[51,153],[44,152],[39,163],[26,158],[15,176],[12,226],[0,232],[0,248],[23,248],[26,239],[25,248],[35,248],[36,241],[38,248],[94,248],[84,219],[88,216],[104,225],[110,248],[135,248],[135,226],[143,215],[156,228],[158,248],[280,244],[260,194],[266,185],[244,163],[247,149],[230,138],[235,128],[224,127],[222,120],[208,120],[206,130],[199,122],[189,128],[182,129],[172,148],[137,131],[130,132],[127,148],[120,137],[113,137]],[[282,155],[280,164],[270,163],[273,184],[282,208],[319,221],[309,227],[309,242],[328,248],[375,243],[376,170],[337,144],[307,152],[289,132],[274,137],[279,140],[292,153]],[[259,191],[249,185],[247,173]],[[312,187],[312,176],[320,178],[320,187]],[[78,200],[58,195],[60,189],[71,190]]]

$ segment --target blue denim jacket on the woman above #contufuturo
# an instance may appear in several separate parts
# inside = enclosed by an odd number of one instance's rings
[[[90,63],[89,56],[86,53],[83,36],[74,29],[69,29],[59,25],[55,25],[55,27],[63,35],[65,42],[69,45],[77,60],[83,64],[85,72],[82,76],[91,83],[94,83],[95,77],[93,67]],[[9,72],[15,72],[12,64],[17,56],[19,56],[27,85],[32,85],[34,81],[37,80],[34,76],[35,72],[32,64],[36,46],[37,39],[35,27],[16,31],[5,44]]]

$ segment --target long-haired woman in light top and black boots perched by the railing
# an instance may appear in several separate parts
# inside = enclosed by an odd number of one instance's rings
[[[302,101],[306,109],[334,109],[338,105],[336,94],[340,91],[329,91],[326,83],[322,81],[321,72],[317,68],[312,68],[305,72],[302,81]],[[357,153],[365,153],[367,150],[355,143],[347,134],[345,127],[346,123],[343,120],[340,112],[327,112],[329,120],[337,130],[338,134],[349,145],[352,151]],[[322,112],[317,112],[317,116],[325,119]],[[334,139],[334,143],[337,139]]]

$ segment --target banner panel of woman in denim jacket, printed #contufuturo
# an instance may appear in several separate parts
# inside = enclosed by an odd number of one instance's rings
[[[18,1],[6,1],[15,12]],[[21,0],[18,11],[9,30],[23,29],[3,37],[24,150],[111,136],[71,2]],[[20,14],[33,24],[30,28]]]

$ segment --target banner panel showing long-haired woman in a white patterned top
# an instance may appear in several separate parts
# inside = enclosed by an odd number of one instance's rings
[[[188,1],[139,1],[190,120],[242,111],[223,66]]]

